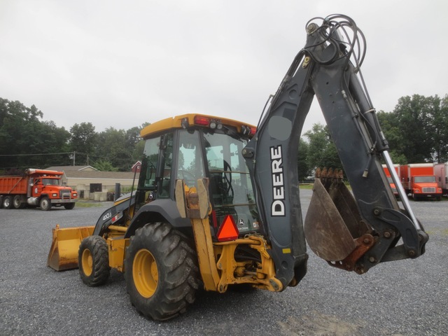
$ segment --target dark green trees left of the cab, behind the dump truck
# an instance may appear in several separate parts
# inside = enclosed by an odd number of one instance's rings
[[[140,127],[96,132],[92,123],[70,130],[45,121],[36,106],[0,98],[0,171],[91,165],[102,171],[129,172],[141,159]]]

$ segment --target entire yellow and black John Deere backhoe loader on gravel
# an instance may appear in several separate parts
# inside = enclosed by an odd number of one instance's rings
[[[79,267],[87,286],[107,281],[111,268],[124,272],[136,309],[165,320],[201,286],[296,286],[307,272],[305,238],[329,265],[358,274],[422,255],[428,235],[381,167],[395,172],[360,76],[363,34],[344,15],[310,20],[306,31],[257,127],[187,114],[144,128],[137,191],[92,227],[54,229],[48,265]],[[342,170],[318,170],[303,223],[297,148],[314,96],[351,192]]]

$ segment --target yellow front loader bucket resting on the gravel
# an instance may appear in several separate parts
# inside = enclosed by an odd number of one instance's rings
[[[53,229],[50,253],[47,266],[57,271],[78,268],[78,249],[81,241],[93,234],[94,226],[78,228]]]

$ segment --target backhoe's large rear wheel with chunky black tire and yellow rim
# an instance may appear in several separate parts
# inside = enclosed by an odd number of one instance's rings
[[[154,320],[182,314],[199,287],[197,255],[188,239],[167,223],[135,232],[126,251],[125,279],[132,305]]]

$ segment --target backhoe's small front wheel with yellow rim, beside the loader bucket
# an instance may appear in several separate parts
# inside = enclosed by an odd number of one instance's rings
[[[101,286],[109,278],[109,249],[101,236],[85,237],[78,251],[79,275],[87,286]]]

